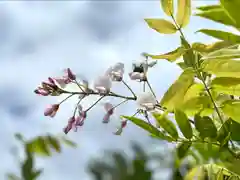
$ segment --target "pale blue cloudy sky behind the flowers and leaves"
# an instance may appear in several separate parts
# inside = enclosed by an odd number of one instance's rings
[[[193,6],[216,1],[195,0]],[[164,53],[179,45],[179,35],[161,35],[147,27],[144,18],[164,16],[159,1],[70,1],[70,2],[0,2],[0,176],[17,170],[10,149],[16,144],[15,132],[27,138],[47,132],[59,134],[72,113],[71,99],[61,107],[56,118],[43,116],[47,104],[59,98],[42,98],[33,93],[35,87],[48,76],[60,75],[70,67],[90,81],[116,62],[123,62],[127,71],[142,52]],[[197,17],[185,29],[191,42],[212,42],[214,39],[194,32],[201,28],[219,28],[221,25]],[[228,29],[231,30],[231,29]],[[161,97],[180,74],[179,68],[160,61],[150,73],[153,88]],[[127,78],[127,76],[126,76]],[[128,80],[127,80],[128,81]],[[132,84],[132,83],[131,83]],[[132,84],[138,92],[139,85]],[[114,87],[128,93],[120,85]],[[91,104],[93,99],[86,101]],[[68,136],[79,145],[78,149],[64,148],[63,153],[50,159],[39,159],[44,167],[42,180],[83,179],[86,162],[100,156],[104,149],[122,149],[129,152],[131,140],[143,144],[147,150],[155,148],[156,141],[141,129],[129,124],[122,136],[112,132],[118,125],[118,115],[133,114],[134,104],[119,108],[109,125],[103,125],[103,108],[91,111],[85,126]],[[139,138],[141,137],[141,138]]]

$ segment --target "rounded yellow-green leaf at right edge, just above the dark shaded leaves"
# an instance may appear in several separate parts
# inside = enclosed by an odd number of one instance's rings
[[[234,121],[240,123],[240,101],[239,100],[228,100],[222,104],[222,111],[226,116],[232,118]]]

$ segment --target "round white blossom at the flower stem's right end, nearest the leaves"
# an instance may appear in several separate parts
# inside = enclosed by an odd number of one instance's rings
[[[150,92],[145,92],[137,97],[137,104],[145,110],[153,110],[156,103],[156,98]]]

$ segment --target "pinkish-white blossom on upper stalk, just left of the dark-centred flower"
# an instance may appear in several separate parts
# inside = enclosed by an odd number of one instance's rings
[[[109,76],[112,81],[121,81],[123,78],[123,74],[124,74],[123,63],[117,63],[106,71],[106,75]]]

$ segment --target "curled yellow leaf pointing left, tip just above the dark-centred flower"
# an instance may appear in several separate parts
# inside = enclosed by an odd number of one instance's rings
[[[185,50],[183,47],[179,47],[174,51],[168,52],[166,54],[159,54],[159,55],[151,55],[147,54],[147,56],[151,57],[152,59],[166,59],[170,62],[176,61],[179,57],[184,54]]]

